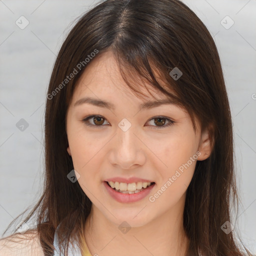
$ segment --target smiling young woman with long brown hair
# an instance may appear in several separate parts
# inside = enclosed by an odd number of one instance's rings
[[[106,0],[78,20],[48,86],[45,174],[16,255],[245,255],[221,64],[185,4]]]

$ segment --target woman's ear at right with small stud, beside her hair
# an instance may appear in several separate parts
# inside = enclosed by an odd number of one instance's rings
[[[212,138],[210,137],[209,129],[205,129],[201,133],[201,138],[198,146],[198,151],[200,151],[201,154],[198,155],[197,160],[202,161],[210,156],[213,147],[212,145],[214,144],[211,139]]]

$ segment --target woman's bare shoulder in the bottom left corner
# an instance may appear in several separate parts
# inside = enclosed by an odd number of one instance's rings
[[[36,231],[16,233],[0,239],[1,256],[43,256]]]

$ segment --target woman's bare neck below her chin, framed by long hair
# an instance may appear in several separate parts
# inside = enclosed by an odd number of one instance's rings
[[[91,255],[185,256],[188,239],[180,214],[184,205],[180,206],[123,233],[92,206],[85,223],[85,240]]]

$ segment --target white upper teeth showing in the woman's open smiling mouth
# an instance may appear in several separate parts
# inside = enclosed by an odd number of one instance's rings
[[[111,187],[116,192],[124,194],[134,194],[143,191],[147,187],[154,185],[155,182],[133,182],[133,183],[123,183],[123,182],[113,182],[104,181],[109,187]]]

